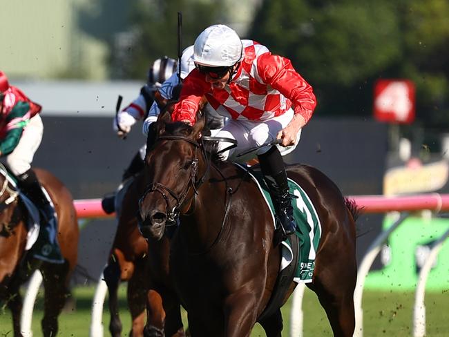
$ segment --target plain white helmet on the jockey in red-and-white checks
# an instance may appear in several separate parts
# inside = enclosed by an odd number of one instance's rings
[[[201,66],[233,66],[242,59],[242,41],[228,26],[210,26],[196,38],[192,58]]]

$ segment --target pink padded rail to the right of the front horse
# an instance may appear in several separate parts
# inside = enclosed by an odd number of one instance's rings
[[[384,197],[383,195],[354,195],[357,206],[363,207],[364,213],[385,213],[389,211],[448,211],[449,194],[426,193]]]

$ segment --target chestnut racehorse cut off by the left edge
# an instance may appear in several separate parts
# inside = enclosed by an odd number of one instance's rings
[[[58,219],[57,240],[61,247],[63,264],[52,264],[33,258],[25,250],[27,241],[26,206],[19,198],[18,191],[0,174],[0,301],[7,302],[12,312],[14,336],[22,336],[20,314],[22,298],[19,288],[36,270],[44,279],[44,318],[41,327],[44,336],[55,336],[58,331],[57,318],[70,296],[68,288],[70,276],[77,263],[78,222],[73,198],[64,184],[48,171],[35,168],[42,186],[46,189],[55,206]]]

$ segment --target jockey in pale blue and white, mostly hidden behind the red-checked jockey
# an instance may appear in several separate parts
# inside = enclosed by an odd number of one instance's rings
[[[157,116],[160,114],[161,108],[164,108],[164,106],[166,106],[166,104],[172,99],[174,99],[175,101],[178,100],[180,94],[179,90],[182,87],[182,81],[187,77],[187,75],[189,75],[189,73],[193,69],[195,69],[195,63],[193,62],[192,57],[193,46],[189,46],[182,52],[182,57],[179,65],[181,67],[180,74],[173,73],[173,75],[171,75],[169,79],[164,81],[162,86],[157,89],[158,95],[155,99],[155,102],[153,102],[153,105],[151,106],[149,114],[144,120],[144,124],[142,127],[142,132],[144,133],[144,135],[148,135],[149,128],[151,124],[156,121]],[[180,79],[179,75],[181,77]],[[209,128],[209,130],[211,130],[212,133],[218,131],[224,126],[225,117],[218,115],[218,113],[216,113],[216,110],[211,108],[209,104],[202,104],[202,110],[207,117],[207,127]]]

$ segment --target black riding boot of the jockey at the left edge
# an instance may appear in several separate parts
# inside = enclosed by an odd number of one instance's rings
[[[37,206],[41,215],[39,238],[32,249],[35,252],[34,256],[47,262],[64,263],[64,258],[61,255],[57,242],[55,210],[44,195],[35,171],[29,169],[25,173],[18,175],[17,178],[19,179],[20,190]]]

